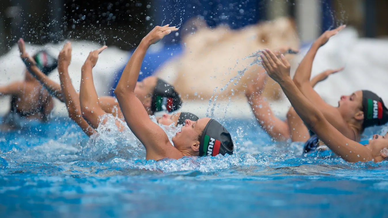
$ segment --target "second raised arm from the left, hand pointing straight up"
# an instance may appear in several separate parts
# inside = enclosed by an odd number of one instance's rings
[[[68,67],[71,61],[71,44],[67,42],[58,56],[58,72],[61,81],[61,89],[64,96],[66,107],[68,108],[69,117],[78,124],[83,132],[92,136],[95,130],[86,122],[81,115],[80,97],[75,91],[69,77]]]

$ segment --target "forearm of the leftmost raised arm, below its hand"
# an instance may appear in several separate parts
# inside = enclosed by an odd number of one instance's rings
[[[36,65],[30,65],[27,70],[47,89],[52,96],[64,102],[61,85],[52,81],[48,76],[43,74]]]

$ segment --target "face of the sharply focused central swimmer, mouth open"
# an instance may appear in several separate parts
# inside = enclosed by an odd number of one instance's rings
[[[199,135],[203,133],[210,118],[201,118],[197,121],[185,120],[182,129],[172,137],[175,148],[191,155],[199,155]]]

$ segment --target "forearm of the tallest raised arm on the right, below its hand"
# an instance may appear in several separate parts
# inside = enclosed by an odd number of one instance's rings
[[[310,84],[311,69],[319,47],[317,43],[313,43],[306,56],[300,62],[293,79],[296,86],[307,82]]]

